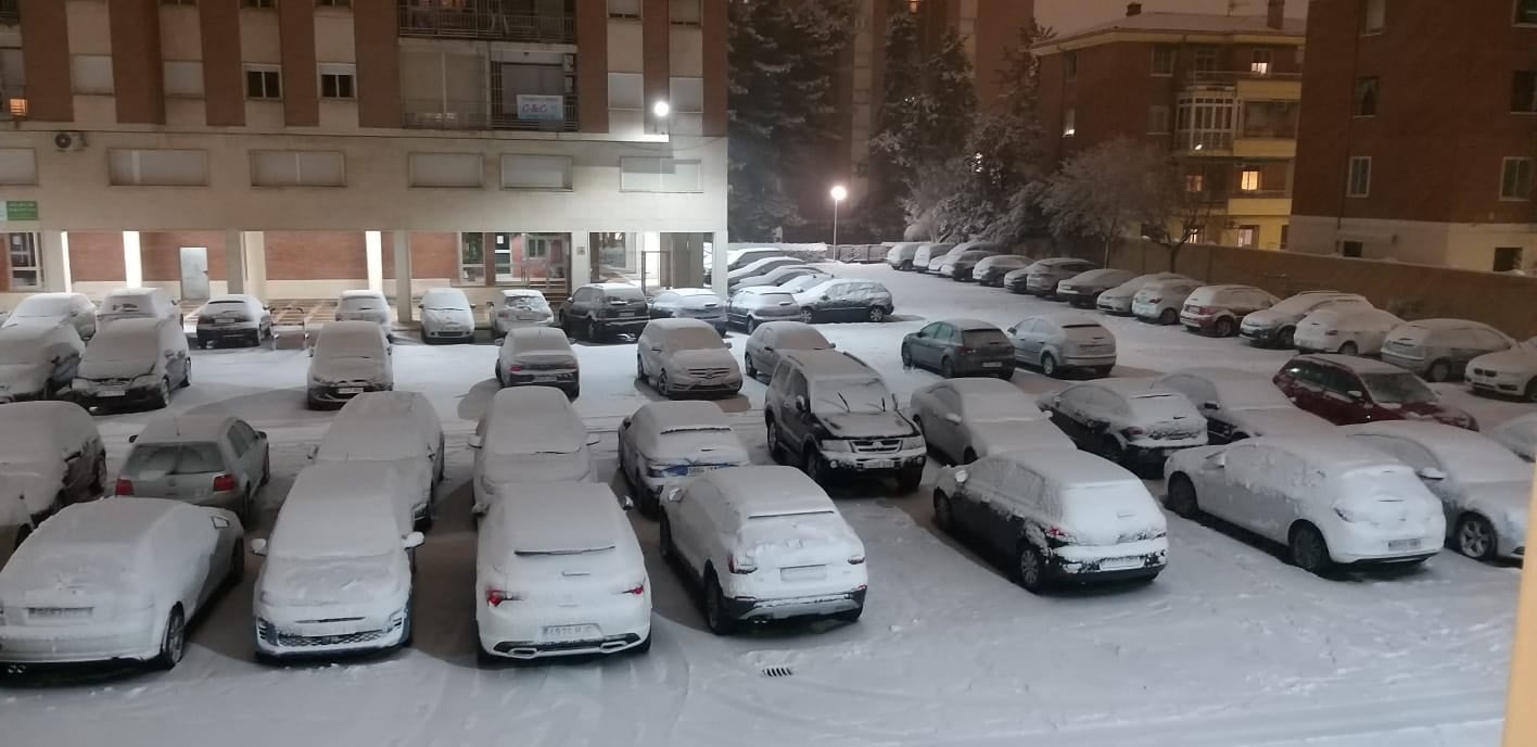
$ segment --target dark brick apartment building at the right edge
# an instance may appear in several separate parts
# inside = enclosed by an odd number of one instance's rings
[[[1314,0],[1297,251],[1537,267],[1537,0]]]

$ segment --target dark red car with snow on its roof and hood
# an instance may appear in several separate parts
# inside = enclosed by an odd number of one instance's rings
[[[1379,420],[1434,420],[1479,430],[1479,423],[1397,366],[1349,355],[1310,354],[1288,361],[1276,386],[1297,407],[1336,426]]]

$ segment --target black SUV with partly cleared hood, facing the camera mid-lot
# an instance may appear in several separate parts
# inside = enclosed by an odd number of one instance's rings
[[[842,475],[896,476],[907,493],[924,478],[927,444],[875,369],[838,350],[779,357],[764,397],[768,453],[818,483]]]

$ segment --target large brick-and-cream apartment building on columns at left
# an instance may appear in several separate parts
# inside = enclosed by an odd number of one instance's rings
[[[725,8],[0,0],[0,301],[698,283]]]

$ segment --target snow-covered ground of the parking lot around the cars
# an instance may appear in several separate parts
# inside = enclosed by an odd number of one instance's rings
[[[904,370],[898,344],[927,320],[1008,326],[1057,304],[839,266],[887,283],[885,324],[827,324],[841,350],[881,370],[905,401],[936,380]],[[1228,366],[1270,375],[1288,352],[1177,327],[1107,318],[1116,375]],[[484,337],[484,334],[483,334]],[[741,358],[742,335],[733,335]],[[633,344],[578,346],[598,466],[615,472],[619,420],[655,393],[633,378]],[[420,549],[415,646],[330,666],[274,669],[252,656],[251,578],[194,627],[169,673],[45,681],[0,690],[0,744],[281,745],[1076,745],[1492,747],[1499,741],[1519,569],[1443,552],[1408,573],[1326,581],[1237,530],[1168,515],[1170,566],[1150,586],[1033,596],[933,529],[928,483],[836,492],[868,553],[858,624],[710,635],[693,595],[656,555],[655,523],[632,515],[653,581],[655,647],[644,656],[481,667],[475,658],[475,532],[466,446],[496,383],[495,347],[395,350],[398,389],[426,392],[447,432],[449,498]],[[303,350],[195,354],[172,412],[227,409],[272,438],[263,536],[329,413],[307,412]],[[1027,392],[1062,386],[1021,369]],[[1488,427],[1532,406],[1437,386]],[[767,464],[764,386],[719,404]],[[97,418],[112,467],[128,437],[163,413]],[[930,467],[930,475],[933,473]],[[930,476],[931,480],[931,476]],[[618,480],[616,490],[622,490]],[[1151,484],[1162,495],[1162,484]],[[249,558],[257,564],[258,558]],[[770,667],[788,676],[767,676]],[[782,672],[776,672],[782,673]]]

